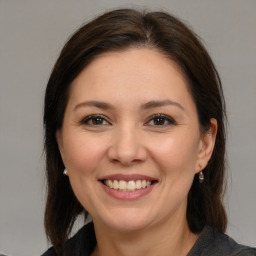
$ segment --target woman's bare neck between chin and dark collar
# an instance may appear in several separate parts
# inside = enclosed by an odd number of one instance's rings
[[[185,256],[198,238],[183,221],[163,221],[142,230],[120,232],[94,223],[97,246],[92,256]]]

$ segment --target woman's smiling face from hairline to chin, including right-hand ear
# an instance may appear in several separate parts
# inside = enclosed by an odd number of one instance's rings
[[[152,49],[97,57],[74,80],[57,140],[96,225],[139,230],[186,219],[195,173],[214,146],[174,62]]]

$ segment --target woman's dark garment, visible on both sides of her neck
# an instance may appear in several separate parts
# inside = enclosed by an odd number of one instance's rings
[[[96,238],[93,223],[91,222],[68,240],[65,255],[61,256],[90,256],[95,246]],[[56,255],[55,250],[50,248],[42,256]],[[256,256],[256,249],[240,245],[229,236],[205,226],[187,256]]]

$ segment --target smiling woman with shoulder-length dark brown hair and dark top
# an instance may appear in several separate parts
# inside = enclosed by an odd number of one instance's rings
[[[224,235],[225,117],[213,62],[177,18],[124,9],[81,27],[45,95],[44,255],[256,255]]]

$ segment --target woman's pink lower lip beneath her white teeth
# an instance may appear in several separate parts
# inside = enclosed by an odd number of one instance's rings
[[[134,191],[121,191],[121,190],[117,190],[117,189],[112,189],[106,185],[104,185],[103,183],[101,183],[101,185],[103,186],[103,189],[105,190],[105,192],[114,197],[115,199],[119,199],[119,200],[136,200],[139,199],[147,194],[149,194],[152,189],[154,188],[154,186],[156,185],[156,183],[150,185],[147,188],[142,188],[142,189],[138,189],[138,190],[134,190]]]

